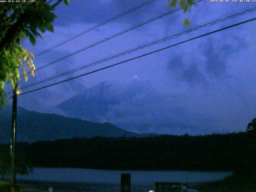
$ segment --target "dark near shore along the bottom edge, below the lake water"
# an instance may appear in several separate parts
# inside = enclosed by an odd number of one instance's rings
[[[55,192],[120,192],[120,184],[100,184],[100,183],[83,183],[83,182],[43,182],[31,180],[17,180],[17,185],[22,186],[26,190],[48,191],[48,187],[52,187]],[[232,183],[228,184],[224,180],[216,182],[196,182],[184,183],[188,189],[195,189],[198,192],[253,192],[252,190],[244,190],[241,186]],[[152,184],[131,184],[133,192],[148,192],[153,190]]]

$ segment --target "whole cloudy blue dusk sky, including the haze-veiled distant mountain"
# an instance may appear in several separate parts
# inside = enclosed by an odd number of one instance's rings
[[[54,11],[57,16],[54,33],[42,34],[43,39],[37,39],[35,46],[28,40],[22,46],[37,54],[143,2],[145,0],[70,0],[69,6],[63,3]],[[167,2],[156,0],[35,58],[34,64],[36,68],[43,66],[167,12]],[[34,78],[30,76],[28,82],[20,80],[19,85],[29,85],[186,30],[183,24],[185,18],[189,18],[193,27],[252,6],[256,4],[199,2],[191,12],[184,14],[180,10],[112,38],[36,71]],[[238,16],[22,92],[152,52],[255,16],[255,12]],[[119,66],[24,94],[18,97],[18,105],[38,112],[110,122],[139,133],[197,135],[245,131],[248,122],[256,116],[255,34],[256,21],[248,22]]]

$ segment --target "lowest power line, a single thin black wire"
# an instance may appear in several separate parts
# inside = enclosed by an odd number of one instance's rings
[[[66,80],[57,82],[57,83],[53,83],[53,84],[50,84],[50,85],[47,85],[47,86],[43,86],[43,87],[40,87],[40,88],[31,90],[31,91],[28,91],[28,92],[24,92],[24,93],[22,93],[22,94],[20,94],[20,95],[28,94],[28,93],[31,93],[31,92],[34,92],[34,91],[37,91],[37,90],[41,90],[41,89],[44,89],[44,88],[47,88],[47,87],[50,87],[50,86],[54,86],[54,85],[57,85],[57,84],[66,82],[66,81],[73,80],[73,79],[76,79],[76,78],[79,78],[79,77],[82,77],[82,76],[86,76],[86,75],[88,75],[88,74],[92,74],[92,73],[95,73],[95,72],[98,72],[98,71],[101,71],[101,70],[105,70],[105,69],[107,69],[107,68],[111,68],[111,67],[113,67],[113,66],[117,66],[117,65],[120,65],[120,64],[122,64],[122,63],[126,63],[126,62],[129,62],[129,61],[132,61],[132,60],[135,60],[135,59],[138,59],[138,58],[141,58],[141,57],[144,57],[144,56],[147,56],[147,55],[156,53],[156,52],[160,52],[160,51],[162,51],[162,50],[165,50],[165,49],[168,49],[168,48],[171,48],[171,47],[174,47],[174,46],[183,44],[183,43],[185,43],[185,42],[189,42],[189,41],[192,41],[192,40],[195,40],[195,39],[204,37],[204,36],[208,36],[208,35],[210,35],[210,34],[213,34],[213,33],[216,33],[216,32],[220,32],[220,31],[222,31],[222,30],[226,30],[226,29],[228,29],[228,28],[232,28],[232,27],[234,27],[234,26],[238,26],[238,25],[241,25],[241,24],[244,24],[244,23],[247,23],[247,22],[251,22],[251,21],[253,21],[253,20],[256,20],[256,18],[252,18],[252,19],[249,19],[249,20],[246,20],[246,21],[243,21],[243,22],[234,24],[234,25],[230,25],[230,26],[227,26],[227,27],[218,29],[218,30],[214,30],[214,31],[212,31],[212,32],[208,32],[208,33],[206,33],[206,34],[202,34],[202,35],[200,35],[200,36],[196,36],[196,37],[194,37],[194,38],[190,38],[190,39],[188,39],[188,40],[185,40],[185,41],[182,41],[182,42],[179,42],[179,43],[176,43],[176,44],[172,44],[172,45],[170,45],[170,46],[167,46],[167,47],[164,47],[164,48],[155,50],[155,51],[153,51],[153,52],[149,52],[149,53],[146,53],[146,54],[143,54],[143,55],[134,57],[134,58],[130,58],[130,59],[128,59],[128,60],[124,60],[124,61],[122,61],[122,62],[118,62],[118,63],[116,63],[116,64],[112,64],[112,65],[110,65],[110,66],[106,66],[106,67],[100,68],[100,69],[98,69],[98,70],[94,70],[94,71],[91,71],[91,72],[87,72],[87,73],[85,73],[85,74],[82,74],[82,75],[79,75],[79,76],[76,76],[76,77],[72,77],[72,78],[69,78],[69,79],[66,79]],[[12,98],[12,97],[10,97],[10,98]],[[9,99],[10,99],[10,98],[9,98]]]

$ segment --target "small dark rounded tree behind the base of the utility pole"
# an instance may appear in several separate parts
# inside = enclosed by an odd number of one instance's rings
[[[10,178],[10,161],[10,149],[5,148],[0,153],[0,175],[2,179]],[[28,175],[29,173],[33,172],[32,165],[30,164],[30,162],[24,154],[17,154],[15,172],[20,175]]]

